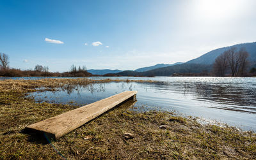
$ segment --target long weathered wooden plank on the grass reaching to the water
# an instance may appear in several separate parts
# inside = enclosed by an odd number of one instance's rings
[[[136,94],[137,91],[125,91],[95,103],[91,103],[90,105],[82,106],[61,115],[31,124],[27,126],[26,129],[44,133],[51,138],[58,139],[127,99],[136,101]]]

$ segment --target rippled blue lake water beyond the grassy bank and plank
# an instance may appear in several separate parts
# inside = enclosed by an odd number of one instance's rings
[[[156,80],[156,83],[111,82],[33,92],[36,101],[86,105],[123,91],[138,91],[138,110],[177,111],[204,122],[224,122],[256,131],[256,78],[218,77],[90,77]],[[1,79],[1,78],[0,78]],[[17,78],[16,78],[17,79]],[[28,77],[24,79],[38,79]],[[141,107],[143,106],[143,107]]]

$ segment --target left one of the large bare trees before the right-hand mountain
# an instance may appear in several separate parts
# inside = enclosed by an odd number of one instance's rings
[[[213,64],[213,71],[216,76],[225,76],[228,69],[228,59],[226,54],[219,55]]]

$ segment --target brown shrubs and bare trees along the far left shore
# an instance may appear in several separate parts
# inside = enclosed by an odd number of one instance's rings
[[[74,64],[71,66],[70,71],[59,73],[51,72],[48,66],[36,64],[34,70],[21,70],[10,68],[9,56],[0,53],[0,76],[93,76],[87,72],[86,66],[76,67]]]

